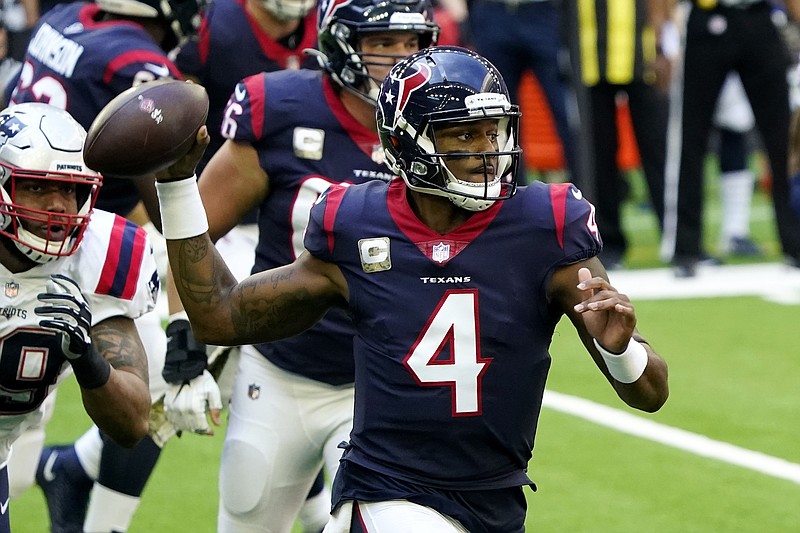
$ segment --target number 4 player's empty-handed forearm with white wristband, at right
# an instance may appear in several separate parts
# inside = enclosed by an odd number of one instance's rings
[[[602,263],[592,258],[556,271],[549,294],[617,395],[642,411],[660,409],[669,395],[667,364],[637,331],[633,304],[609,283]]]

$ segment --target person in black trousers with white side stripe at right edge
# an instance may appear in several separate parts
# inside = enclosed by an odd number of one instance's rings
[[[667,2],[668,0],[661,0]],[[785,1],[800,17],[800,0]],[[772,171],[772,201],[781,248],[800,266],[800,218],[789,205],[787,151],[790,57],[764,0],[694,0],[686,17],[679,95],[671,102],[664,232],[661,252],[678,277],[697,274],[703,246],[703,166],[720,90],[738,72],[753,109]]]

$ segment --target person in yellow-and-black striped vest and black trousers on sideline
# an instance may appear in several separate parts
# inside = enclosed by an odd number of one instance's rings
[[[581,83],[586,91],[585,116],[581,131],[588,135],[587,159],[591,162],[597,224],[603,228],[600,254],[608,269],[624,264],[627,240],[620,220],[624,200],[623,178],[617,165],[617,99],[627,97],[633,131],[639,147],[642,170],[647,181],[659,228],[664,216],[664,165],[666,162],[669,97],[659,79],[669,69],[662,46],[657,46],[649,0],[593,0],[578,2],[577,20]],[[677,37],[669,50],[677,48]]]

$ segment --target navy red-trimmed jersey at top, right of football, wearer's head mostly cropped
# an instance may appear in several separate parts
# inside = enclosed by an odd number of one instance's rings
[[[211,143],[198,165],[198,175],[225,140],[219,134],[225,104],[239,81],[259,72],[318,67],[313,56],[303,53],[317,45],[316,10],[286,41],[270,39],[246,11],[244,0],[215,0],[205,13],[198,37],[181,47],[175,64],[208,91]]]

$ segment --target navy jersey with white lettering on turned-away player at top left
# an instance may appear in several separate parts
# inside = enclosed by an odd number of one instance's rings
[[[60,4],[33,30],[11,103],[44,102],[66,109],[85,129],[105,105],[133,85],[180,78],[175,65],[130,21],[98,22],[94,4]],[[105,179],[97,207],[127,215],[139,201],[130,180]]]

